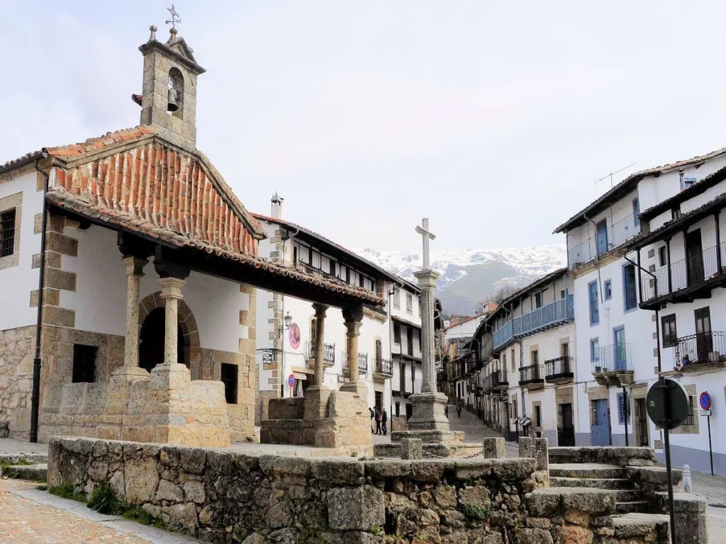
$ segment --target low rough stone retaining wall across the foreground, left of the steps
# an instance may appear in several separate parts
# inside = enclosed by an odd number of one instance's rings
[[[90,493],[108,482],[169,529],[214,543],[663,541],[662,524],[622,530],[610,515],[614,492],[542,489],[535,469],[529,458],[245,456],[54,438],[48,483]]]

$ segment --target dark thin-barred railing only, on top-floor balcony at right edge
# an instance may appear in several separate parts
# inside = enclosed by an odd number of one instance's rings
[[[697,287],[718,276],[726,276],[726,242],[721,242],[721,270],[718,264],[718,247],[712,246],[701,253],[671,263],[671,285],[668,286],[668,265],[656,268],[653,276],[643,275],[640,278],[640,290],[643,302],[676,293],[688,287]]]

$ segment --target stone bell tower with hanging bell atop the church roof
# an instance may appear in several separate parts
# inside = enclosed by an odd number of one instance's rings
[[[197,144],[197,75],[205,72],[184,38],[169,29],[169,39],[156,39],[151,25],[149,41],[139,47],[144,54],[142,95],[132,99],[142,107],[141,124],[152,125],[161,136],[179,147],[195,149]]]

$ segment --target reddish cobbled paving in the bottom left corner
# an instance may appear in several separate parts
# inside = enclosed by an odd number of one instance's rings
[[[105,516],[74,500],[36,490],[36,484],[0,479],[0,542],[23,544],[196,544],[171,532]]]

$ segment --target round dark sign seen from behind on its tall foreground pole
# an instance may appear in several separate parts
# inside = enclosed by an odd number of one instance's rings
[[[710,401],[709,401],[710,402]],[[668,511],[671,522],[671,542],[676,544],[676,524],[673,510],[673,479],[671,473],[671,442],[669,431],[683,424],[688,417],[690,405],[682,385],[661,376],[648,391],[646,408],[650,421],[663,429],[666,453],[666,474],[668,478]]]

